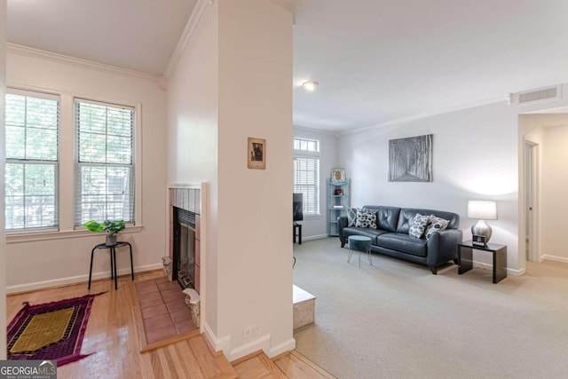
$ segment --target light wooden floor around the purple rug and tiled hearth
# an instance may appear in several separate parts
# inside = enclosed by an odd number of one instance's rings
[[[136,274],[136,281],[163,276],[162,271]],[[141,353],[146,338],[138,296],[130,276],[119,277],[114,290],[111,280],[49,288],[6,297],[10,322],[23,302],[48,303],[69,297],[107,291],[97,296],[91,309],[83,353],[91,356],[58,368],[58,378],[333,378],[296,351],[269,359],[260,351],[238,359],[233,365],[222,352],[215,352],[201,335]]]

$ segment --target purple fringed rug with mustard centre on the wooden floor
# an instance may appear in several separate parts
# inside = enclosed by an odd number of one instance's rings
[[[83,336],[95,295],[24,307],[8,325],[8,359],[57,359],[63,366],[81,354]]]

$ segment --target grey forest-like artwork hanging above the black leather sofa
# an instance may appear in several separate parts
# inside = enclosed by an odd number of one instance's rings
[[[432,137],[427,134],[389,140],[390,182],[432,181]]]

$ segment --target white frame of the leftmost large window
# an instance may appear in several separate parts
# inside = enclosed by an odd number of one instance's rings
[[[6,156],[5,156],[5,162],[4,162],[4,180],[5,180],[5,175],[7,172],[7,166],[9,164],[16,164],[16,165],[21,165],[22,167],[24,167],[25,170],[25,166],[26,165],[47,165],[47,166],[52,166],[53,167],[53,225],[47,225],[47,226],[26,226],[24,224],[23,227],[21,228],[15,228],[15,229],[8,229],[7,225],[4,225],[4,231],[6,233],[6,237],[10,237],[12,235],[19,235],[19,234],[29,234],[29,233],[33,233],[33,234],[37,234],[37,233],[53,233],[53,232],[58,232],[59,228],[60,228],[60,201],[59,201],[59,184],[60,184],[60,178],[59,178],[59,165],[60,165],[60,160],[61,160],[61,154],[60,154],[60,138],[61,138],[61,96],[57,93],[53,93],[50,91],[39,91],[39,90],[25,90],[25,89],[20,89],[17,87],[12,87],[12,86],[8,86],[6,87],[6,91],[4,93],[4,104],[7,105],[7,101],[6,101],[6,97],[8,95],[15,95],[15,96],[23,96],[23,97],[27,97],[27,98],[32,98],[32,99],[47,99],[47,100],[51,100],[51,101],[57,101],[57,121],[56,121],[56,158],[55,160],[48,160],[48,159],[28,159],[27,157],[24,158],[10,158],[7,155],[7,151],[6,151]],[[4,113],[4,126],[5,126],[5,118],[7,117],[7,111]],[[28,122],[26,122],[26,124],[24,125],[24,127],[26,128],[26,131],[28,131]],[[5,144],[5,138],[4,138],[4,144]],[[7,149],[6,149],[7,150]],[[24,178],[25,181],[25,178]],[[25,186],[25,185],[24,185]],[[24,188],[24,193],[22,194],[22,197],[24,198],[24,202],[23,202],[23,207],[24,207],[24,212],[26,211],[25,208],[25,199],[27,197],[30,197],[33,195],[28,195],[26,194],[26,189]],[[8,209],[7,207],[7,200],[8,200],[8,194],[4,192],[4,206],[5,206],[5,210],[6,211]],[[4,214],[5,217],[5,214]],[[6,223],[7,224],[7,223]]]

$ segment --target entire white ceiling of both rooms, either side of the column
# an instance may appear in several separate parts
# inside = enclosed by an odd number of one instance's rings
[[[295,14],[297,126],[351,130],[568,83],[566,1],[272,1]],[[161,75],[196,3],[8,0],[8,42]]]

